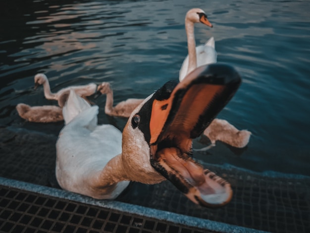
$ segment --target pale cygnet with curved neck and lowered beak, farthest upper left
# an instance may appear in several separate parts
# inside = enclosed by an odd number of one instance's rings
[[[62,88],[58,92],[52,93],[49,80],[48,80],[48,78],[47,78],[47,76],[45,74],[38,73],[38,74],[35,75],[34,79],[35,79],[35,89],[39,85],[43,85],[44,96],[48,100],[57,100],[58,101],[59,97],[63,93],[68,91],[69,89],[73,89],[76,92],[77,95],[79,95],[79,96],[81,96],[83,98],[86,98],[86,96],[91,96],[91,95],[95,94],[96,91],[97,91],[97,84],[90,83],[90,84],[87,84],[87,85],[70,86],[70,87]]]

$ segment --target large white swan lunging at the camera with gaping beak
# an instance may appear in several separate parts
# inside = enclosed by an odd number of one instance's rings
[[[98,106],[70,90],[63,107],[75,108],[56,142],[55,174],[61,188],[96,199],[114,199],[129,181],[168,179],[196,204],[221,206],[232,198],[230,184],[194,161],[198,137],[240,86],[225,64],[198,67],[182,82],[167,82],[130,115],[123,133],[98,125]],[[203,99],[203,101],[201,101]]]

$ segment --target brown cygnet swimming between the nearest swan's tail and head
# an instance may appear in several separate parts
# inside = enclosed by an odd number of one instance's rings
[[[130,117],[132,111],[140,105],[144,99],[127,99],[113,107],[113,90],[108,82],[103,82],[97,87],[97,91],[106,95],[104,112],[113,117]]]

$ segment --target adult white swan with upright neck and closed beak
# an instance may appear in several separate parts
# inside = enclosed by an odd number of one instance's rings
[[[195,23],[203,23],[209,27],[213,27],[207,20],[207,15],[204,10],[193,8],[187,11],[185,16],[185,31],[187,36],[188,56],[184,59],[179,71],[180,81],[182,81],[184,77],[196,67],[216,63],[217,61],[217,53],[215,51],[215,41],[213,37],[211,37],[205,45],[196,47],[194,33]]]

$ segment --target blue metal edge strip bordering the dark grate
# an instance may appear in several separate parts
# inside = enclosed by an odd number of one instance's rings
[[[23,182],[19,180],[0,177],[0,184],[12,188],[26,190],[34,193],[39,193],[47,196],[52,196],[61,199],[67,199],[84,204],[90,204],[100,206],[108,209],[123,211],[130,214],[137,214],[149,218],[155,218],[158,220],[164,220],[175,224],[181,224],[185,226],[205,229],[214,232],[221,233],[262,233],[262,231],[244,228],[225,223],[215,222],[207,219],[200,219],[191,216],[185,216],[181,214],[171,213],[168,211],[156,210],[148,207],[122,203],[118,201],[110,200],[96,200],[87,196],[79,195],[76,193],[68,192],[61,189],[42,186],[38,184]]]

